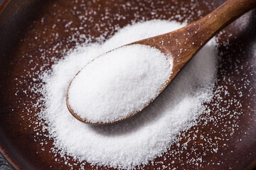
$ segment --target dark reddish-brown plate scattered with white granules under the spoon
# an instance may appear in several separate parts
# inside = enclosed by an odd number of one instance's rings
[[[63,158],[50,152],[53,141],[36,135],[34,130],[38,129],[35,120],[40,108],[33,108],[33,104],[40,95],[30,88],[40,83],[37,73],[53,64],[48,60],[50,57],[63,57],[62,52],[53,52],[53,48],[70,50],[76,43],[85,42],[81,34],[90,35],[90,42],[97,41],[100,35],[110,38],[114,28],[122,28],[131,21],[158,18],[191,23],[220,4],[223,1],[3,1],[1,154],[15,169],[70,169]],[[107,18],[102,20],[102,16]],[[144,169],[252,169],[256,165],[256,12],[246,13],[225,28],[218,41],[222,64],[215,98],[208,104],[210,115],[202,115],[197,126],[178,136],[180,141],[171,146],[165,158],[156,158],[156,163],[151,162]],[[48,145],[42,147],[38,141]],[[74,169],[80,168],[72,158],[68,163]],[[97,166],[85,164],[84,168]]]

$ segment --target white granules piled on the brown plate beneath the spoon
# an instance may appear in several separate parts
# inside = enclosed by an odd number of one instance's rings
[[[174,21],[147,21],[126,26],[104,43],[78,47],[53,65],[52,72],[43,77],[45,108],[41,118],[46,120],[55,150],[59,150],[62,157],[68,155],[80,162],[133,168],[161,156],[179,132],[194,125],[194,120],[205,111],[203,103],[211,100],[215,86],[215,40],[210,40],[198,52],[151,106],[124,123],[104,126],[82,123],[70,114],[65,103],[70,81],[95,57],[129,42],[168,33],[182,26]]]

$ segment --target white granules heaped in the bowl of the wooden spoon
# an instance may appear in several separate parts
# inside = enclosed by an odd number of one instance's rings
[[[164,53],[146,45],[107,52],[73,79],[68,90],[70,108],[91,123],[128,118],[159,95],[171,65]]]

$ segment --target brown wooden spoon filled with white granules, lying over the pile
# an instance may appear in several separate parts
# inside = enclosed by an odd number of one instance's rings
[[[207,16],[201,18],[200,20],[189,24],[188,26],[163,35],[132,42],[128,45],[149,45],[163,52],[166,55],[167,60],[173,60],[172,74],[167,81],[168,85],[174,79],[174,77],[176,77],[178,72],[181,71],[185,64],[191,60],[194,55],[196,55],[198,50],[200,50],[201,47],[203,47],[203,45],[205,45],[206,42],[210,40],[210,38],[213,38],[213,36],[216,35],[225,26],[228,26],[228,24],[242,16],[242,14],[250,11],[255,7],[256,0],[228,0],[223,5],[215,9],[215,11],[209,13]],[[72,81],[70,84],[71,83]],[[160,92],[164,91],[166,86],[164,86]],[[69,88],[70,86],[68,89]],[[68,110],[75,116],[75,118],[78,118],[78,120],[85,123],[92,123],[89,120],[81,118],[80,115],[73,111],[68,102],[68,92],[66,103]],[[136,115],[139,112],[140,111],[137,111],[134,114],[129,115],[127,118],[123,118],[122,120],[110,123],[99,122],[92,124],[111,124],[121,122],[131,118],[133,115]]]

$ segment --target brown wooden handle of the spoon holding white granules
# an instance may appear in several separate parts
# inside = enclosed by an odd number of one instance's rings
[[[228,0],[198,21],[174,32],[166,33],[165,36],[171,36],[172,39],[178,40],[176,44],[171,42],[170,45],[166,45],[166,49],[169,49],[169,52],[174,57],[174,72],[171,79],[176,77],[176,74],[178,74],[188,60],[191,60],[210,38],[213,38],[225,26],[228,26],[228,24],[242,16],[242,14],[255,7],[256,0]],[[159,38],[161,39],[161,37],[160,35]],[[176,46],[172,47],[174,44]],[[186,50],[177,50],[184,47]]]

